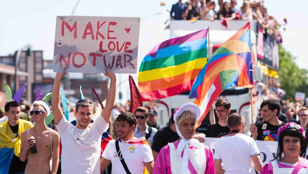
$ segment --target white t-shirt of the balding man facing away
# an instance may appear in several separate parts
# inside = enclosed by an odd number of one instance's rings
[[[221,137],[216,141],[214,159],[222,160],[225,174],[254,173],[251,156],[260,154],[255,140],[244,134]]]

